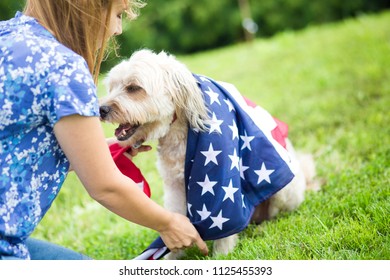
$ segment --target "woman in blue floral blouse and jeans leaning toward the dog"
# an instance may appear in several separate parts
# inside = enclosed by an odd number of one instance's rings
[[[122,32],[122,14],[135,18],[141,6],[27,0],[23,14],[0,23],[0,259],[85,258],[29,238],[70,166],[92,198],[158,231],[171,250],[196,244],[207,254],[186,217],[148,199],[117,169],[99,121],[95,83],[105,45]]]

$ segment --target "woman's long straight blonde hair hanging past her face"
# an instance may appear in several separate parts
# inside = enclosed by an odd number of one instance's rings
[[[60,43],[81,55],[97,83],[114,1],[117,0],[27,0],[24,13],[36,18]],[[145,5],[142,0],[123,2],[130,20],[135,19],[138,9]],[[105,26],[104,35],[99,38],[102,26]]]

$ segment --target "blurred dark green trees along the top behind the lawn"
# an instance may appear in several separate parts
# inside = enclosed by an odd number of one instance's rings
[[[375,13],[390,0],[145,0],[141,16],[124,24],[119,55],[148,47],[189,54],[278,32]],[[12,17],[24,0],[1,0],[0,20]],[[104,69],[117,63],[113,55]]]

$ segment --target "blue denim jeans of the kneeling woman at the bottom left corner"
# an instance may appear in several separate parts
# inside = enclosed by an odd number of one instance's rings
[[[91,258],[67,249],[65,247],[47,242],[28,238],[26,245],[32,260],[90,260]],[[18,260],[11,256],[0,256],[0,260]]]

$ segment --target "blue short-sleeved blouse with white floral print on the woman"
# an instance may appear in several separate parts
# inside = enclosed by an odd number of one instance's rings
[[[30,258],[69,169],[53,127],[73,114],[99,116],[85,60],[20,12],[0,22],[0,256]]]

